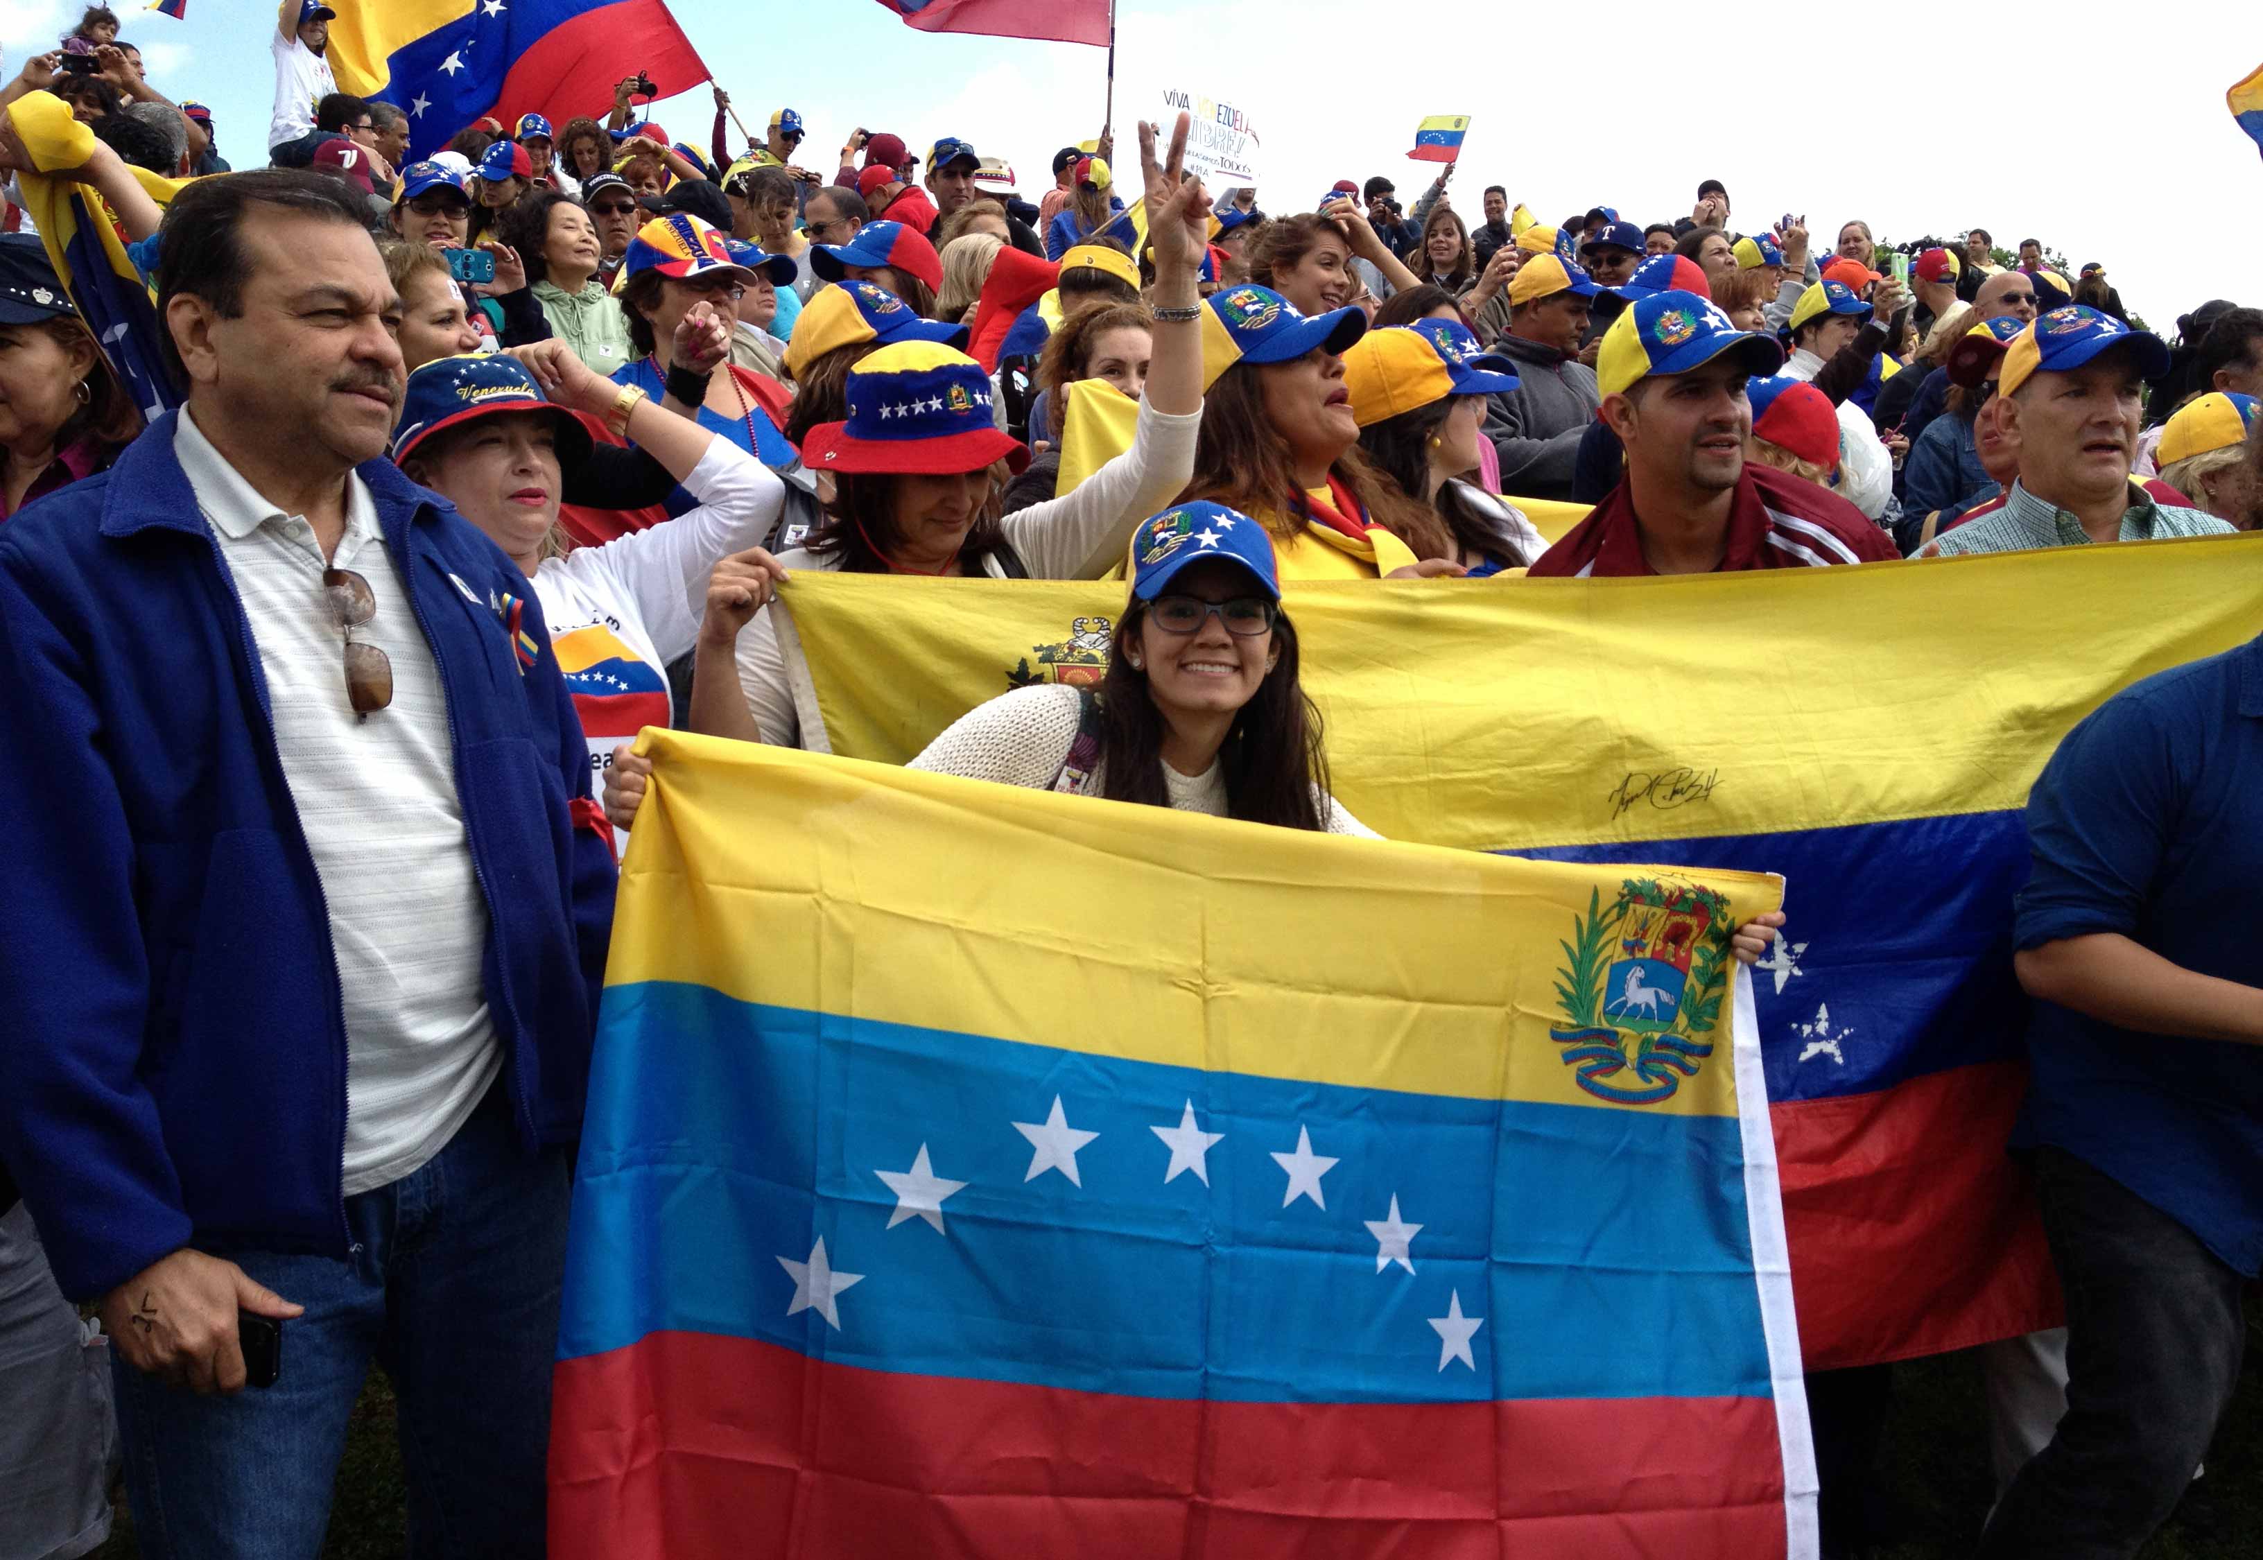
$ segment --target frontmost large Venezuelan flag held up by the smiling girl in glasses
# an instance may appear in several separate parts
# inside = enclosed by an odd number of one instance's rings
[[[552,1555],[1813,1553],[1776,881],[645,743]]]

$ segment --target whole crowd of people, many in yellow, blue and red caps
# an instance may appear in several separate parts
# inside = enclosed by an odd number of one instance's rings
[[[315,1555],[371,1358],[419,1553],[541,1553],[629,743],[808,736],[797,573],[1120,575],[1098,688],[1007,693],[914,768],[1365,835],[1301,582],[2263,518],[2263,310],[2168,342],[2037,240],[1822,247],[1718,181],[1647,226],[1505,186],[1471,220],[1453,165],[1412,211],[1371,177],[1267,213],[1186,174],[1184,118],[1138,129],[1136,188],[1102,131],[1030,202],[957,136],[733,140],[720,88],[677,140],[634,79],[407,161],[333,20],[283,0],[249,172],[102,5],[0,91],[0,734],[38,820],[0,931],[0,1560],[100,1542],[120,1440],[147,1553]],[[34,181],[143,269],[177,410],[136,405]],[[2258,774],[2263,641],[2116,697],[2037,786],[2007,937],[2068,1329],[1991,1374],[2023,1429],[1985,1555],[2134,1553],[2238,1381]],[[1813,1402],[1853,1553],[1862,1426]]]

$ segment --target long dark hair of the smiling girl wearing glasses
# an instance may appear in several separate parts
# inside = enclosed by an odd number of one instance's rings
[[[1125,607],[1116,654],[1100,679],[1100,795],[1109,802],[1170,806],[1163,783],[1163,711],[1147,672],[1125,648],[1138,641],[1147,602]],[[1328,754],[1319,740],[1319,711],[1297,682],[1297,625],[1274,616],[1274,659],[1258,691],[1233,713],[1217,763],[1227,781],[1227,817],[1279,829],[1328,826]]]

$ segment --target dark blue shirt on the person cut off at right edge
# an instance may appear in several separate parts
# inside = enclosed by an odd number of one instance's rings
[[[2148,677],[2066,734],[2028,797],[2019,946],[2123,933],[2263,987],[2263,638]],[[2263,1268],[2263,1046],[2037,1003],[2021,1139],[2086,1159]]]

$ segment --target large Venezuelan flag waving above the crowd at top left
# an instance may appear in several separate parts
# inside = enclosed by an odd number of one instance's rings
[[[563,125],[602,113],[613,84],[643,70],[661,97],[699,86],[708,68],[663,0],[387,0],[339,7],[330,23],[339,91],[410,115],[410,156],[493,115],[541,113]]]

